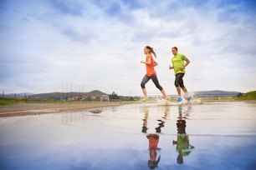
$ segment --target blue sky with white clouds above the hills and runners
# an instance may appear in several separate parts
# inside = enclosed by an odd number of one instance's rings
[[[2,0],[0,91],[66,92],[72,84],[141,95],[146,45],[168,94],[176,93],[173,46],[191,60],[188,90],[256,90],[255,9],[238,0]]]

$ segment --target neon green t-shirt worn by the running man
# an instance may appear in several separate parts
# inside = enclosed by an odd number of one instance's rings
[[[174,73],[185,73],[186,70],[181,70],[180,67],[184,67],[184,60],[186,60],[187,57],[181,53],[177,53],[176,56],[172,57],[172,67],[174,68]]]

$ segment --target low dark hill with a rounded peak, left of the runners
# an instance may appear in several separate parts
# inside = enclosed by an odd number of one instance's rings
[[[91,92],[50,92],[50,93],[40,93],[33,94],[28,97],[28,99],[64,99],[69,97],[79,97],[79,96],[95,96],[100,97],[102,95],[108,95],[105,92],[101,92],[100,90],[93,90]]]

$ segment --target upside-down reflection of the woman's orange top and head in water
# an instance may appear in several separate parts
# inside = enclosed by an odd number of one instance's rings
[[[161,156],[157,158],[157,151],[160,150],[160,148],[157,148],[158,142],[159,142],[159,135],[156,133],[151,133],[146,135],[146,138],[148,138],[149,142],[149,156],[150,159],[147,162],[147,166],[150,169],[155,169],[158,166],[158,163],[160,161]]]

